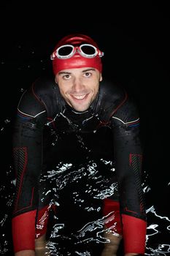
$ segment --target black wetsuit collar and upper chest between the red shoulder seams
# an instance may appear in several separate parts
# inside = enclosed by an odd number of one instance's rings
[[[107,81],[100,83],[96,99],[88,110],[77,112],[61,96],[53,80],[41,80],[34,86],[36,97],[47,111],[46,125],[57,132],[94,132],[99,127],[111,127],[111,117],[125,98],[125,92]]]

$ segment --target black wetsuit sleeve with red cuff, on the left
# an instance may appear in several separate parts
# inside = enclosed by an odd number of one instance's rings
[[[13,159],[16,191],[12,216],[14,251],[35,249],[35,225],[39,202],[39,175],[42,165],[42,132],[45,105],[26,91],[18,105],[13,131]]]

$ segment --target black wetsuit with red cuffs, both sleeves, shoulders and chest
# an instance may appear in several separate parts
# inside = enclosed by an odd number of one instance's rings
[[[101,127],[108,127],[112,131],[110,140],[114,146],[125,252],[144,253],[146,214],[136,106],[120,86],[102,81],[90,108],[78,112],[61,97],[53,78],[37,79],[23,93],[18,105],[13,135],[17,172],[12,218],[15,252],[34,249],[36,222],[48,207],[49,202],[39,200],[39,179],[47,166],[47,157],[43,153],[47,151],[47,130],[55,135],[79,135],[93,134]]]

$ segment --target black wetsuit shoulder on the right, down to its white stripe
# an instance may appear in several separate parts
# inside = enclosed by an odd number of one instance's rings
[[[139,123],[139,113],[134,99],[125,88],[109,80],[100,84],[98,96],[98,113],[104,121],[112,121],[121,124]]]

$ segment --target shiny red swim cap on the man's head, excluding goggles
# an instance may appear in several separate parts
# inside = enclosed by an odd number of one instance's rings
[[[62,45],[73,45],[76,47],[83,44],[93,45],[93,47],[96,48],[98,54],[96,54],[96,56],[93,57],[87,57],[82,56],[82,54],[79,51],[76,51],[72,56],[64,59],[58,58],[56,54],[58,48],[60,48]],[[56,75],[63,69],[74,69],[80,67],[93,67],[95,69],[98,69],[99,72],[101,72],[101,56],[103,55],[104,53],[102,53],[98,49],[98,45],[90,37],[84,34],[70,34],[66,37],[63,37],[63,39],[61,39],[55,46],[55,49],[51,55],[51,59],[53,60],[53,72]]]

